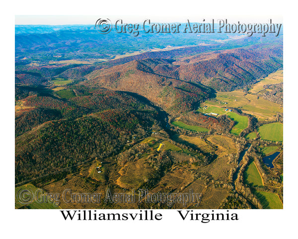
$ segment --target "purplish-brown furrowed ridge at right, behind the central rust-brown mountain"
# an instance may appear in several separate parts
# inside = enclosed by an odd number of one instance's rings
[[[254,84],[283,67],[281,46],[257,45],[183,58],[174,74],[181,80],[202,83],[217,91],[232,91]]]

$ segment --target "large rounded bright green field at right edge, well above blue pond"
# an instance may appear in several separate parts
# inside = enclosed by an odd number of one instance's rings
[[[282,123],[268,123],[260,126],[258,132],[261,139],[270,141],[283,141],[283,124]]]

